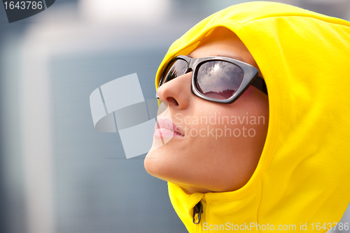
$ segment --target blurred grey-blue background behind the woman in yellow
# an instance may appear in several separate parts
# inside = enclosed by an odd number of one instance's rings
[[[0,4],[0,232],[186,232],[144,155],[94,129],[89,96],[137,73],[153,99],[169,45],[242,2],[57,0],[11,24]],[[279,2],[350,20],[349,0]]]

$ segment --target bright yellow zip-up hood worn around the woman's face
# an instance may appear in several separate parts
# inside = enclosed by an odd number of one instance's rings
[[[246,227],[252,224],[327,231],[317,226],[334,226],[350,201],[350,22],[282,3],[231,6],[172,44],[156,85],[169,59],[187,55],[221,26],[239,36],[265,79],[267,139],[258,167],[239,190],[187,195],[169,183],[176,213],[189,232],[227,232],[228,225],[258,230]],[[195,225],[198,202],[203,213]]]

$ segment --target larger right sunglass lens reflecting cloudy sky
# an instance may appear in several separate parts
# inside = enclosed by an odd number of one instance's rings
[[[244,71],[235,64],[204,62],[197,71],[197,90],[213,99],[229,99],[239,89],[243,78]]]

